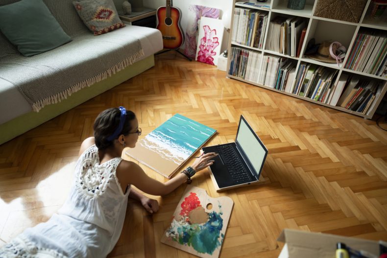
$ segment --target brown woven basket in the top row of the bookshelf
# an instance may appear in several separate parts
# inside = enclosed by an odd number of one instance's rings
[[[358,23],[367,0],[318,0],[314,16]]]

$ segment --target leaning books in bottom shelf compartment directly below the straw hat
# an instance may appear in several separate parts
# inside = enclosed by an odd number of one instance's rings
[[[337,74],[338,70],[301,63],[290,92],[322,103],[330,103]]]

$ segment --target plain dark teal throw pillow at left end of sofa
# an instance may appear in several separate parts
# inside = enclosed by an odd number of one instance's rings
[[[24,56],[40,54],[72,40],[42,0],[0,6],[0,30]]]

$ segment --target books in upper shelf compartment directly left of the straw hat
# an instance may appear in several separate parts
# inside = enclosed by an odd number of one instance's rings
[[[305,39],[307,23],[301,17],[277,16],[269,23],[266,49],[299,57]]]

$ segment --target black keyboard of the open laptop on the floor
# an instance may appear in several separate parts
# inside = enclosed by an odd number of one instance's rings
[[[227,165],[228,171],[235,183],[242,184],[251,181],[248,172],[231,144],[218,145],[217,148],[220,158]]]

